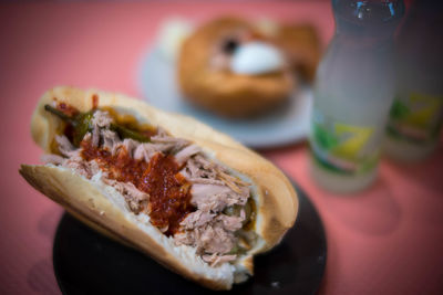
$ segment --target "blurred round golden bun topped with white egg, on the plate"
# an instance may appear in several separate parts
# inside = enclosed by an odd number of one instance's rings
[[[234,18],[210,21],[184,41],[178,84],[189,102],[227,117],[265,113],[295,88],[282,51],[253,24]]]

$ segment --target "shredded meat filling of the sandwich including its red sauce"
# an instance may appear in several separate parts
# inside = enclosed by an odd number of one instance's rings
[[[122,138],[114,129],[111,115],[96,109],[79,147],[66,135],[56,136],[61,156],[43,160],[87,179],[100,176],[133,213],[148,214],[176,245],[196,247],[212,266],[236,260],[237,233],[251,215],[249,183],[161,128],[146,143]]]

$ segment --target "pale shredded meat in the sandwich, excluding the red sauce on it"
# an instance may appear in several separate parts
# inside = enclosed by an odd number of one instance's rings
[[[234,177],[223,166],[208,160],[198,146],[171,137],[162,128],[151,137],[150,143],[138,143],[127,138],[122,140],[111,130],[112,118],[106,112],[96,110],[91,123],[92,131],[83,140],[91,140],[93,146],[102,146],[112,155],[119,155],[122,147],[130,157],[146,162],[157,152],[174,155],[175,161],[183,167],[181,173],[192,183],[190,203],[195,207],[195,211],[179,223],[181,230],[174,235],[175,243],[195,246],[202,259],[212,266],[236,259],[229,252],[237,244],[235,233],[243,226],[245,211],[241,210],[238,217],[230,217],[224,210],[231,206],[246,204],[250,194],[248,183]],[[45,162],[71,168],[89,179],[101,172],[101,180],[116,189],[134,213],[148,210],[147,193],[133,183],[111,179],[106,172],[101,171],[96,161],[83,159],[81,149],[75,149],[68,137],[56,136],[55,140],[61,156],[45,155],[42,157]],[[159,230],[165,232],[167,228]]]

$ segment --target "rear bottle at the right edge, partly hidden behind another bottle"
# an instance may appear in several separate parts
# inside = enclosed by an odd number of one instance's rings
[[[439,143],[443,119],[443,3],[412,3],[395,46],[395,94],[384,151],[419,160]]]

